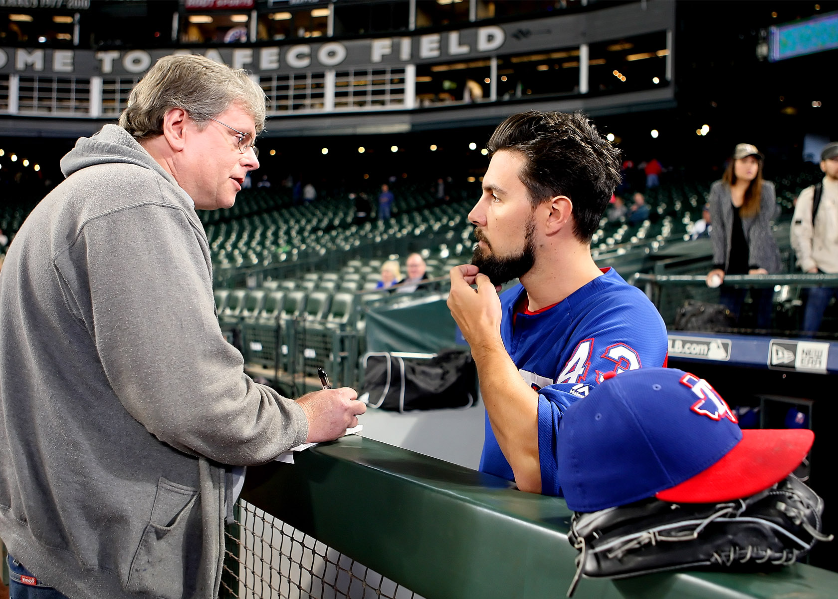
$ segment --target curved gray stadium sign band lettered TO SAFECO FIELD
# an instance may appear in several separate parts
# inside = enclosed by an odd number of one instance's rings
[[[0,0],[0,3],[4,1],[9,0]],[[214,6],[217,4],[214,3]],[[615,37],[670,30],[674,27],[675,13],[671,3],[649,3],[642,11],[634,4],[626,4],[608,9],[607,13],[606,20],[611,26],[603,24],[597,27],[595,33],[589,30],[591,23],[588,21],[596,16],[592,13],[426,34],[411,33],[342,41],[318,39],[306,40],[305,43],[300,40],[299,44],[286,42],[266,46],[235,44],[215,48],[130,50],[5,47],[0,48],[0,73],[39,76],[141,76],[159,58],[172,54],[204,55],[235,68],[250,70],[258,76],[335,67],[379,69],[409,64],[440,64],[446,61],[453,66],[468,64],[469,60],[486,60],[494,55],[515,56],[556,49],[578,51],[580,44],[593,44]]]

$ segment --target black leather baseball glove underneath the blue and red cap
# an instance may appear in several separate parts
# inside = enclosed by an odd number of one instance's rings
[[[676,568],[764,570],[789,565],[816,541],[824,502],[799,478],[726,503],[645,499],[618,508],[573,514],[571,544],[580,576],[625,578]]]

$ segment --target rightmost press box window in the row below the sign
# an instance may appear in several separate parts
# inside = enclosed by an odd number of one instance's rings
[[[666,32],[590,45],[590,93],[623,93],[666,85]]]

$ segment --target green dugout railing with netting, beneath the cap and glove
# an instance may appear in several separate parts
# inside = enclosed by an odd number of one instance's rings
[[[356,435],[295,459],[293,465],[249,468],[241,496],[255,517],[241,526],[255,529],[251,544],[261,559],[282,561],[291,570],[277,578],[288,576],[296,584],[301,572],[309,576],[317,568],[310,560],[295,566],[293,550],[269,547],[264,539],[273,536],[258,518],[279,518],[279,528],[296,529],[287,534],[297,535],[300,551],[310,547],[328,556],[328,550],[317,549],[319,543],[349,559],[343,566],[339,557],[330,560],[337,582],[319,582],[316,590],[323,596],[401,597],[375,589],[382,587],[380,578],[366,569],[427,599],[565,596],[577,551],[566,538],[572,514],[562,499],[519,492],[503,479]],[[227,567],[241,579],[231,596],[319,596],[310,589],[286,593],[281,581],[269,591],[254,589],[252,570],[266,566],[247,551],[242,546],[228,552]],[[301,562],[306,561],[303,555]],[[365,567],[358,575],[364,583],[353,587],[349,579],[358,564]],[[343,587],[340,576],[347,579]],[[836,589],[835,572],[794,564],[770,573],[682,571],[621,581],[583,579],[574,596],[810,599],[835,597]]]

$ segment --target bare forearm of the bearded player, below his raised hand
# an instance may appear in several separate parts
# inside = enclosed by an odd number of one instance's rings
[[[489,424],[521,491],[541,492],[538,393],[521,378],[498,341],[472,346]]]

